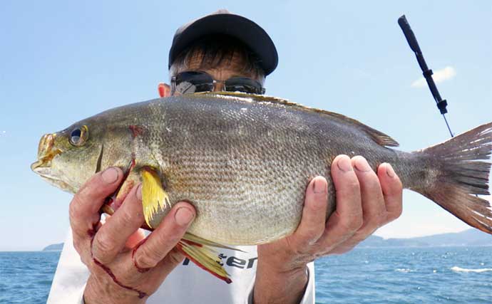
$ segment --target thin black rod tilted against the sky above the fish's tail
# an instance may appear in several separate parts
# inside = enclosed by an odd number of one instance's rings
[[[422,74],[426,79],[427,85],[429,85],[429,89],[431,90],[432,97],[436,100],[437,108],[441,115],[444,117],[444,122],[446,122],[446,126],[448,127],[449,134],[453,137],[453,132],[451,132],[451,127],[449,127],[448,120],[446,120],[446,113],[448,110],[446,109],[448,102],[445,99],[441,98],[439,94],[439,90],[437,90],[436,83],[434,83],[434,79],[432,78],[432,70],[427,67],[427,63],[424,59],[424,55],[422,55],[422,51],[420,50],[419,43],[415,38],[414,31],[411,30],[409,21],[406,20],[405,15],[401,16],[398,19],[398,24],[401,27],[401,31],[403,31],[406,41],[409,43],[411,51],[414,51],[417,61],[419,62],[420,68],[422,70]]]

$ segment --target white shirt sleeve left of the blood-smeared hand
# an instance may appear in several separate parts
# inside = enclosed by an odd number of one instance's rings
[[[83,290],[88,277],[88,268],[73,247],[72,231],[69,229],[46,303],[83,304]]]

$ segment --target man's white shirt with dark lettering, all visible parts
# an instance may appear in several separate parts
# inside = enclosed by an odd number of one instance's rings
[[[256,246],[237,246],[245,252],[217,248],[232,283],[227,284],[185,258],[165,279],[158,290],[150,295],[148,304],[163,303],[252,303],[252,289],[257,266]],[[306,291],[300,303],[314,304],[314,263],[307,265]],[[73,248],[72,232],[61,251],[60,260],[51,284],[48,304],[83,304],[83,290],[89,276]]]

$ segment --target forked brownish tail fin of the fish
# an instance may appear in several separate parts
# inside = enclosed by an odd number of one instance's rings
[[[489,194],[491,164],[480,160],[492,153],[492,122],[421,152],[440,162],[434,182],[421,194],[466,224],[492,234],[491,204],[473,195]]]

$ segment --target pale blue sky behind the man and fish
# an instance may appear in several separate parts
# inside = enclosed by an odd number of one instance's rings
[[[492,121],[490,1],[2,1],[0,230],[2,250],[61,242],[70,194],[29,169],[39,137],[117,105],[157,97],[173,34],[228,9],[259,23],[280,61],[267,94],[340,112],[386,132],[404,151],[449,134],[396,20],[406,14],[449,101],[453,132]],[[460,231],[419,194],[384,237]]]

